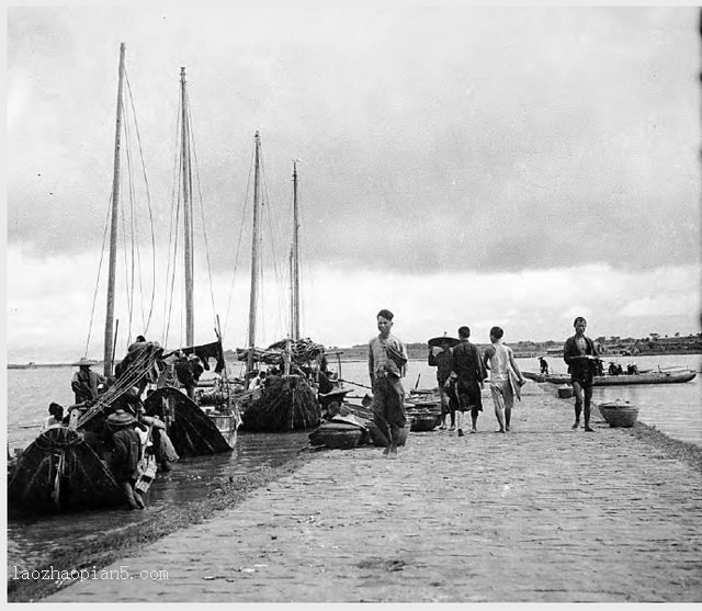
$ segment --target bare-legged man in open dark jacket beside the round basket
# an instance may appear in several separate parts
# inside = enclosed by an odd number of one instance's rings
[[[563,348],[563,360],[568,364],[570,383],[575,393],[575,423],[573,430],[580,426],[580,412],[585,407],[585,430],[590,428],[590,401],[592,399],[592,376],[597,371],[597,349],[595,342],[585,336],[588,324],[582,316],[573,323],[575,336],[569,337]]]

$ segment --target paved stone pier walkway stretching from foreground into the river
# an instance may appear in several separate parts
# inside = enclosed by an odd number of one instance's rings
[[[107,567],[132,579],[45,600],[701,601],[702,475],[599,414],[574,432],[573,399],[524,392],[510,433],[486,399],[477,434],[410,433],[395,461],[321,452]]]

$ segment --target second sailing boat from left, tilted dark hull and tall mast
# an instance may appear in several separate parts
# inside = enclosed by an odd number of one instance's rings
[[[180,71],[181,92],[181,150],[180,173],[183,195],[183,242],[184,242],[184,284],[185,284],[185,343],[180,350],[184,354],[212,354],[217,359],[215,372],[224,372],[227,380],[226,361],[222,348],[222,335],[215,329],[215,342],[194,346],[194,257],[193,257],[193,205],[191,171],[191,126],[185,87],[185,68]],[[217,324],[218,327],[218,324]],[[207,357],[203,363],[208,367]],[[237,428],[241,422],[238,407],[233,406],[228,384],[220,392],[210,393],[207,401],[199,401],[199,395],[192,396],[173,386],[156,389],[145,401],[147,415],[157,416],[166,422],[168,435],[180,456],[201,456],[229,452],[236,443]],[[201,409],[201,403],[211,408],[207,414]]]

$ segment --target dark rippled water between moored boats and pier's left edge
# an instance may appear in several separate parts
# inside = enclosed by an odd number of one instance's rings
[[[206,498],[222,478],[236,479],[265,466],[279,466],[309,445],[308,432],[239,433],[228,454],[188,459],[159,474],[148,494],[146,511],[121,509],[47,514],[8,521],[8,570],[32,568],[67,545],[89,542],[138,524],[161,508]],[[10,575],[10,573],[9,573]]]

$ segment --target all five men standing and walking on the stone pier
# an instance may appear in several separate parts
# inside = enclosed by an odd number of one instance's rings
[[[407,422],[405,414],[405,391],[401,378],[407,367],[407,349],[393,333],[394,315],[381,309],[376,315],[377,337],[369,342],[369,375],[373,389],[373,420],[378,430],[387,438],[384,455],[397,456],[397,445],[401,429]],[[584,416],[585,430],[590,427],[592,377],[597,374],[598,353],[595,342],[585,336],[587,321],[578,316],[574,321],[575,335],[564,346],[563,358],[575,394],[576,430]],[[511,348],[502,343],[503,330],[490,329],[490,344],[480,354],[480,350],[469,341],[471,329],[462,326],[458,339],[444,337],[438,340],[441,351],[434,354],[431,342],[428,363],[437,367],[437,382],[441,397],[442,418],[440,429],[446,429],[446,419],[451,417],[450,431],[457,430],[464,437],[463,419],[471,412],[471,430],[477,432],[478,414],[483,411],[482,391],[488,381],[495,405],[495,415],[499,425],[497,432],[510,430],[514,398],[520,398],[520,388],[524,380]]]

